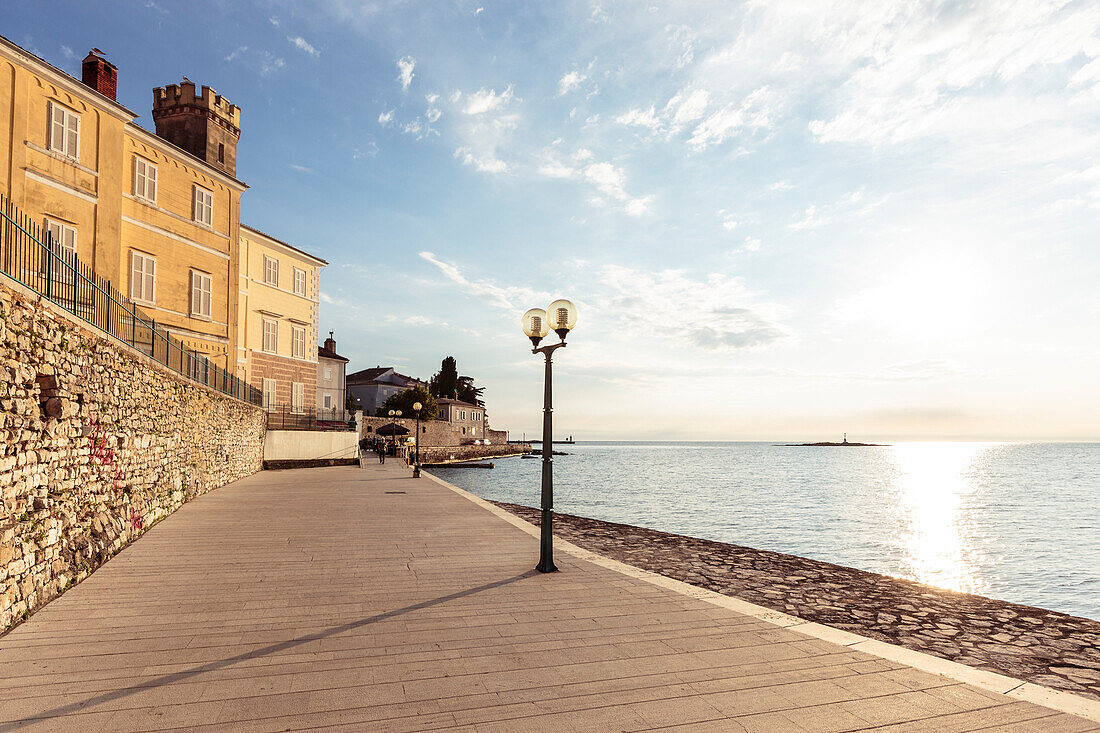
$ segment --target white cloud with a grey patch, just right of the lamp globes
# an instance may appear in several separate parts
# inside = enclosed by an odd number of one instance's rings
[[[631,332],[637,324],[704,351],[730,351],[776,343],[790,336],[774,306],[755,302],[739,277],[714,273],[694,280],[682,270],[646,272],[609,265],[600,283],[609,328]],[[654,318],[660,314],[660,318]]]

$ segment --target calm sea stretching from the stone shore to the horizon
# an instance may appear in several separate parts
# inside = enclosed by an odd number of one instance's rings
[[[560,446],[554,508],[1100,619],[1100,444]],[[541,461],[432,469],[537,506]]]

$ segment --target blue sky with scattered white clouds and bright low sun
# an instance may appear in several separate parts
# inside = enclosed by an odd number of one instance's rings
[[[350,369],[454,355],[579,439],[1100,439],[1100,4],[4,3],[152,128],[242,109],[242,220]]]

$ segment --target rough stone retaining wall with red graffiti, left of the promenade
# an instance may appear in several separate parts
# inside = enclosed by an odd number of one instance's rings
[[[0,283],[0,633],[261,469],[260,408]]]

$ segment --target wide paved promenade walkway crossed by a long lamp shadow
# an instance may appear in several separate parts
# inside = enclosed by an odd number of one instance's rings
[[[201,496],[0,638],[0,731],[1096,731],[565,553],[404,467]],[[532,488],[534,495],[534,488]]]

